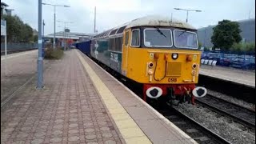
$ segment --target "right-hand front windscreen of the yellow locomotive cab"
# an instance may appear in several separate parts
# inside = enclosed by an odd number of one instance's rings
[[[178,48],[198,49],[197,34],[186,30],[174,30],[174,46]]]

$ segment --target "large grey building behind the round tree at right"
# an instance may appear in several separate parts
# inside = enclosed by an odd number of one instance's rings
[[[255,42],[255,18],[238,21],[242,40],[245,42]],[[217,25],[215,25],[217,26]],[[198,29],[198,42],[202,43],[204,47],[213,47],[211,43],[211,36],[214,33],[215,26],[208,26]]]

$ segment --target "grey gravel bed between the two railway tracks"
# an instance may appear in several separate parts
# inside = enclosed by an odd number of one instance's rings
[[[177,108],[231,143],[255,143],[254,130],[248,130],[241,124],[222,117],[207,108],[197,105],[191,106],[186,103],[179,105]]]

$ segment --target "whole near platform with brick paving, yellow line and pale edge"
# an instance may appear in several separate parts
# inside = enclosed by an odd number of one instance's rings
[[[78,50],[1,107],[1,143],[197,143]]]

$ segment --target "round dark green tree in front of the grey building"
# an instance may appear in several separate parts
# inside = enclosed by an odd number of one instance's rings
[[[241,30],[238,22],[223,20],[218,22],[218,26],[214,27],[214,34],[211,37],[211,42],[214,44],[214,48],[230,50],[234,42],[238,43],[242,40],[240,32]]]

